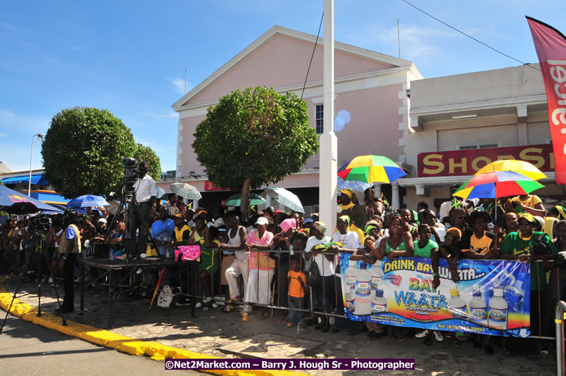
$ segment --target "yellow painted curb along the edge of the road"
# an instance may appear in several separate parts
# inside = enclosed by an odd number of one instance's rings
[[[0,277],[0,308],[8,311],[8,307],[12,301],[12,294],[8,293],[4,288],[6,277]],[[196,353],[185,349],[177,349],[171,346],[165,346],[155,341],[139,341],[138,339],[122,336],[108,330],[98,329],[89,325],[80,324],[67,320],[67,325],[63,326],[61,318],[51,313],[42,312],[42,317],[37,317],[37,308],[23,303],[18,299],[14,299],[10,313],[23,320],[33,322],[57,332],[67,334],[71,337],[77,337],[83,341],[91,342],[99,346],[109,347],[122,353],[131,355],[149,356],[156,361],[163,361],[165,358],[175,359],[195,359],[208,358],[220,359],[218,356]],[[204,372],[214,373],[215,375],[225,376],[308,376],[306,373],[282,370],[204,370]]]

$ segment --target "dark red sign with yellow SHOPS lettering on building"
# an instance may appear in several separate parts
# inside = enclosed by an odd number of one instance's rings
[[[554,170],[552,145],[540,144],[419,153],[417,174],[418,177],[474,175],[484,165],[501,159],[527,161],[545,172]]]

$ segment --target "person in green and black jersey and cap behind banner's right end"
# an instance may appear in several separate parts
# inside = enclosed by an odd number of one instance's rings
[[[531,214],[522,213],[518,222],[519,231],[511,232],[503,239],[501,258],[531,263],[531,335],[551,337],[551,314],[549,311],[551,307],[548,306],[550,299],[546,284],[546,270],[542,263],[534,263],[533,261],[551,261],[556,258],[558,251],[547,234],[533,231],[535,220]],[[547,250],[534,254],[534,244],[538,239],[541,239],[541,242],[546,245]],[[523,349],[528,358],[536,358],[536,341],[534,339],[510,338],[505,345],[505,350],[510,355],[520,353]],[[548,350],[544,346],[541,354],[548,354]]]

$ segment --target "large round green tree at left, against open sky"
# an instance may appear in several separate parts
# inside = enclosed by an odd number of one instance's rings
[[[122,158],[134,155],[130,128],[108,110],[75,107],[57,113],[42,145],[49,183],[71,199],[116,191]]]

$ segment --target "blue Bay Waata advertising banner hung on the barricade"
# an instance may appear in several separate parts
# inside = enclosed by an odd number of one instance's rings
[[[530,264],[460,260],[460,282],[439,261],[440,287],[432,287],[429,258],[349,261],[341,253],[346,318],[448,332],[529,337]]]

